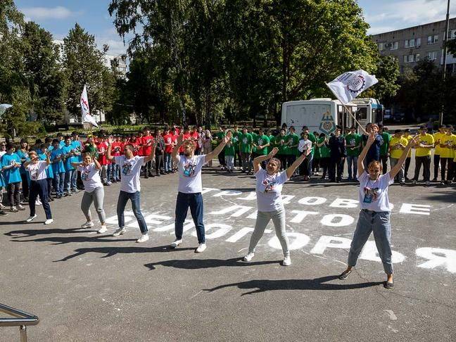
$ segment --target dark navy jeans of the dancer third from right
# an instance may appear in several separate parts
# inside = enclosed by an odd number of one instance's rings
[[[191,218],[193,218],[196,227],[198,243],[204,243],[203,195],[201,195],[201,192],[196,194],[184,194],[183,192],[177,193],[175,220],[176,239],[182,239],[182,234],[184,233],[184,221],[189,207]]]

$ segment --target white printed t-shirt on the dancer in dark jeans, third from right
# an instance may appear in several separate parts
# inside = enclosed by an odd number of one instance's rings
[[[179,159],[179,186],[177,191],[184,194],[196,194],[203,191],[203,182],[201,180],[201,168],[204,165],[205,155],[177,156]]]

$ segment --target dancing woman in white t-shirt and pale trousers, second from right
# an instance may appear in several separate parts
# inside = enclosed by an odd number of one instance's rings
[[[267,156],[259,156],[253,160],[253,170],[256,177],[256,197],[258,205],[257,219],[255,229],[251,236],[248,254],[243,261],[251,261],[255,253],[255,247],[260,241],[262,234],[265,232],[267,224],[272,220],[276,231],[277,238],[280,241],[282,251],[284,252],[284,266],[291,265],[289,241],[286,237],[285,208],[281,198],[281,189],[284,183],[293,175],[296,168],[303,163],[305,157],[310,153],[307,149],[295,162],[283,172],[280,172],[280,160],[274,158],[279,148],[274,147]],[[262,169],[261,163],[269,160],[266,170]]]

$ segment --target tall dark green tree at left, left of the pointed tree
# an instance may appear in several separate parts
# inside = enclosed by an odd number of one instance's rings
[[[65,74],[61,68],[59,48],[51,33],[36,23],[25,23],[23,31],[25,76],[37,120],[53,122],[63,116],[65,108]]]

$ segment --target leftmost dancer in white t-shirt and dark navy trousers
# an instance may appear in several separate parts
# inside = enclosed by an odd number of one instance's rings
[[[53,222],[51,205],[49,205],[48,202],[49,195],[47,191],[48,188],[46,175],[46,168],[51,164],[51,160],[49,160],[50,155],[51,152],[46,151],[46,160],[39,160],[36,151],[29,151],[30,160],[27,160],[24,163],[25,170],[27,170],[27,172],[29,172],[30,175],[30,217],[27,218],[26,222],[32,222],[37,217],[35,205],[38,196],[42,202],[44,213],[46,213],[46,221],[44,222],[44,224],[51,224]]]

